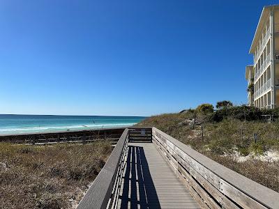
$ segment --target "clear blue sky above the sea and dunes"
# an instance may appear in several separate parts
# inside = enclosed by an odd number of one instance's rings
[[[276,1],[0,0],[0,113],[149,116],[246,103]]]

